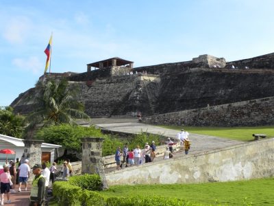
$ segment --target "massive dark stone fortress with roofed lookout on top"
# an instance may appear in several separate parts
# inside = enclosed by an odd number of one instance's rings
[[[153,124],[274,124],[274,53],[233,62],[201,55],[146,67],[134,67],[134,62],[115,57],[88,64],[84,73],[46,75],[66,78],[72,87],[78,85],[77,98],[91,117],[141,112],[143,120]],[[21,93],[10,105],[14,112],[31,112],[36,92],[34,87]]]

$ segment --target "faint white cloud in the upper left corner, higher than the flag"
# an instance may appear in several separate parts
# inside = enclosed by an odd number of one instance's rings
[[[23,43],[31,29],[31,23],[25,16],[14,16],[6,22],[3,37],[12,44]]]

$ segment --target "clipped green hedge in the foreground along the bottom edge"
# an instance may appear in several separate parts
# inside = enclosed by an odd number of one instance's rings
[[[92,177],[93,176],[93,177]],[[97,175],[98,176],[98,175]],[[53,183],[53,196],[58,205],[84,205],[84,206],[199,206],[198,203],[190,203],[178,198],[166,198],[162,196],[123,196],[103,197],[99,192],[84,188],[95,188],[93,183],[101,183],[96,175],[84,175],[70,177],[69,181],[55,181]],[[84,181],[89,182],[84,183]],[[80,186],[81,185],[81,186]],[[97,185],[99,186],[99,185]]]

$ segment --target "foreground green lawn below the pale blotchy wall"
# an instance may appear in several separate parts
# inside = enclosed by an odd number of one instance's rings
[[[121,185],[100,193],[103,196],[175,197],[203,205],[274,205],[273,189],[274,178],[225,183]]]

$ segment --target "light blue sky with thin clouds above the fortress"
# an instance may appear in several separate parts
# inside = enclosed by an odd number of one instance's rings
[[[272,0],[0,0],[0,106],[51,72],[112,57],[134,67],[274,52]]]

